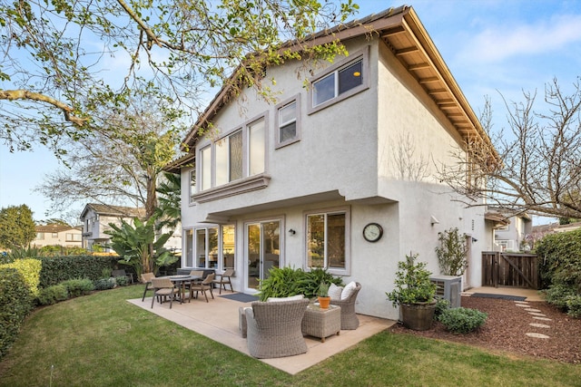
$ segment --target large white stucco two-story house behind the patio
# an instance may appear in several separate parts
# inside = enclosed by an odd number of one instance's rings
[[[323,266],[361,283],[358,313],[398,319],[385,295],[398,261],[418,253],[439,274],[438,232],[468,235],[465,287],[481,284],[492,226],[436,166],[489,139],[412,8],[333,33],[349,56],[267,68],[276,105],[222,89],[184,139],[189,155],[167,168],[182,174],[182,266],[233,267],[248,294],[272,266]]]

